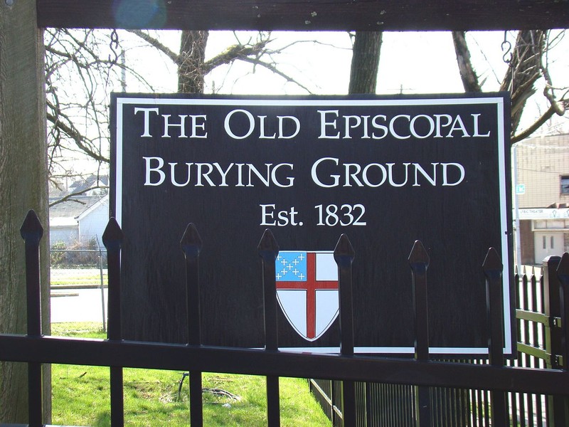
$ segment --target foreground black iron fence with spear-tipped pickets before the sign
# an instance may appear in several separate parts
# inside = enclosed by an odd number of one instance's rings
[[[351,265],[354,251],[349,239],[340,237],[334,258],[339,269],[341,351],[339,354],[299,354],[278,350],[277,299],[275,288],[275,259],[278,246],[270,231],[265,231],[258,252],[262,259],[262,286],[265,298],[265,349],[211,347],[200,345],[199,307],[199,255],[201,238],[190,224],[181,240],[181,250],[186,257],[186,289],[188,308],[188,342],[186,344],[160,344],[123,340],[120,322],[120,251],[122,231],[111,219],[103,243],[108,254],[109,315],[105,340],[62,339],[43,336],[40,315],[40,283],[38,246],[43,229],[33,211],[28,213],[21,228],[26,245],[26,286],[28,292],[28,330],[26,335],[0,334],[0,360],[28,363],[28,413],[29,426],[42,426],[41,370],[43,364],[82,364],[110,367],[110,410],[112,426],[124,425],[123,381],[124,367],[147,369],[171,369],[190,372],[191,426],[203,425],[201,372],[252,374],[267,377],[267,425],[280,425],[279,377],[330,379],[334,383],[331,394],[341,396],[336,400],[335,414],[341,416],[344,426],[365,425],[368,413],[381,412],[390,416],[392,411],[405,413],[408,425],[439,426],[438,419],[447,418],[442,406],[432,405],[432,396],[444,390],[473,390],[483,396],[485,406],[467,407],[479,414],[474,419],[488,419],[491,426],[510,425],[509,406],[511,393],[553,396],[553,406],[567,413],[569,373],[566,365],[546,368],[504,366],[503,331],[501,327],[501,273],[498,254],[490,249],[482,264],[486,275],[489,319],[489,364],[472,364],[432,360],[429,354],[427,329],[427,280],[429,264],[427,253],[418,241],[409,258],[415,305],[415,357],[367,357],[353,354],[353,313],[351,310]],[[569,332],[569,254],[560,259],[556,276],[559,279],[560,324],[563,347],[559,358],[568,360]],[[547,280],[547,278],[546,278]],[[551,280],[551,278],[550,278]],[[558,284],[559,284],[558,283]],[[393,399],[380,408],[362,404],[362,396],[369,394],[363,384],[393,384],[390,393],[407,396],[400,399],[395,409]],[[441,390],[441,391],[439,391]],[[445,391],[447,393],[447,391]],[[472,396],[471,393],[471,396]],[[458,393],[463,396],[462,393]],[[336,399],[336,397],[334,397]],[[462,397],[461,397],[462,399]],[[471,397],[472,399],[472,397]],[[455,404],[459,399],[442,399]],[[468,404],[468,400],[464,401]],[[362,408],[366,412],[362,416]],[[466,413],[467,411],[462,411]],[[456,413],[456,411],[455,411]],[[1,422],[1,421],[0,421]],[[566,425],[558,424],[555,426]],[[373,425],[368,423],[368,425]],[[376,425],[389,425],[378,423]],[[405,424],[401,424],[405,425]],[[456,424],[458,425],[458,424]],[[476,425],[476,423],[474,423]],[[479,424],[484,425],[484,424]],[[550,424],[553,425],[553,424]]]

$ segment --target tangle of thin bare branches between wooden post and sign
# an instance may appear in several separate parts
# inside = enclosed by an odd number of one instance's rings
[[[84,173],[80,159],[109,162],[107,94],[120,64],[101,31],[48,28],[45,42],[48,169],[57,186]]]

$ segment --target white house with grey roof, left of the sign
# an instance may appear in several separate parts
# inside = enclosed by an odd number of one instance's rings
[[[49,209],[50,245],[63,242],[87,244],[98,238],[109,221],[109,196],[74,196]]]

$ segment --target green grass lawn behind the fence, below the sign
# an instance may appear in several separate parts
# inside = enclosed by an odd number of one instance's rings
[[[59,336],[104,338],[97,323],[53,324]],[[181,371],[124,369],[127,426],[189,426],[188,379],[178,396]],[[110,426],[107,367],[52,365],[54,424]],[[265,377],[203,374],[204,426],[266,426]],[[214,394],[207,389],[227,391]],[[281,426],[330,426],[303,379],[280,379]]]

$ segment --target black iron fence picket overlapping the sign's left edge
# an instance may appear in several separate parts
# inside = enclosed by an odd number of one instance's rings
[[[107,337],[112,341],[122,341],[120,320],[120,250],[123,241],[122,230],[115,218],[110,218],[102,234],[102,243],[107,248],[109,325]],[[111,387],[111,425],[124,426],[124,395],[122,367],[110,367]]]

